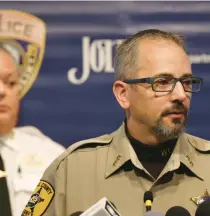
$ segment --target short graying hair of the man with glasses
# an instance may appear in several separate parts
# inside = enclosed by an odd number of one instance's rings
[[[140,31],[130,38],[124,40],[116,49],[116,55],[114,59],[115,79],[122,80],[131,77],[137,69],[137,45],[140,39],[164,39],[174,42],[186,52],[184,39],[181,35],[165,32],[158,29],[148,29]],[[187,52],[186,52],[187,53]]]

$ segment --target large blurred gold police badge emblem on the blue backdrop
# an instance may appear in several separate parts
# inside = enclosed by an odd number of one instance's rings
[[[36,16],[0,10],[0,47],[14,58],[20,77],[20,99],[39,73],[46,43],[46,25]]]

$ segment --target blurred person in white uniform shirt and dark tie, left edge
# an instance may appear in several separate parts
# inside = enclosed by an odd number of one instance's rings
[[[15,57],[0,45],[0,215],[20,216],[37,182],[65,148],[32,126],[18,127]]]

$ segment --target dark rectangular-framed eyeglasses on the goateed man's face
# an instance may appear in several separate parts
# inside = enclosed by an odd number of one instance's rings
[[[125,79],[123,82],[127,84],[149,83],[155,92],[172,92],[176,83],[181,82],[185,92],[196,93],[200,91],[203,85],[203,79],[199,77],[155,76],[142,79]]]

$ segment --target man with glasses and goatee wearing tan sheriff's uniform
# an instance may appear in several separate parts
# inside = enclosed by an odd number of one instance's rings
[[[121,215],[143,216],[149,190],[153,211],[179,205],[194,215],[209,199],[210,144],[184,132],[192,94],[203,81],[192,74],[182,37],[156,29],[133,35],[117,48],[115,74],[124,123],[112,134],[70,146],[35,190],[47,201],[29,200],[23,216],[71,215],[102,197]]]

